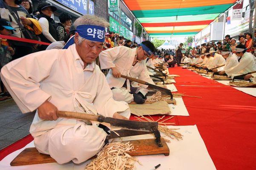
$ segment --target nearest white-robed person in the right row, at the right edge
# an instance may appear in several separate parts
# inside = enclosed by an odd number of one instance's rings
[[[227,76],[233,77],[236,75],[256,71],[256,64],[253,59],[253,55],[251,53],[246,52],[246,47],[244,45],[237,45],[235,48],[235,52],[236,56],[242,57],[241,60],[239,61],[239,64],[237,64],[234,67],[231,67],[230,69],[219,72],[220,75],[226,73]]]

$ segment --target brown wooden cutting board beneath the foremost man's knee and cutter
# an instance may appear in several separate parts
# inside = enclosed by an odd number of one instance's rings
[[[134,146],[134,150],[129,152],[131,156],[142,156],[142,155],[155,155],[155,154],[164,154],[168,156],[170,150],[161,137],[161,143],[163,147],[159,147],[155,139],[140,139],[132,141],[124,141],[124,143],[130,142]],[[95,158],[92,157],[91,159]],[[53,163],[56,162],[51,156],[39,153],[36,148],[26,148],[24,149],[13,161],[10,163],[11,166],[19,165],[29,165],[29,164],[44,164],[44,163]]]

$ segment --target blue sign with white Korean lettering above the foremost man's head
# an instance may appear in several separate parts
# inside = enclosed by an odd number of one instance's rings
[[[71,8],[74,11],[77,11],[81,14],[87,14],[87,6],[86,0],[57,0],[59,3],[63,4],[64,6]],[[89,0],[89,14],[94,14],[94,3]]]

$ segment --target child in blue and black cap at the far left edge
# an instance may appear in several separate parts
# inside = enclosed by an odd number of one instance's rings
[[[0,35],[11,36],[13,34],[13,31],[16,30],[12,28],[9,21],[5,19],[0,19]],[[13,55],[14,49],[11,47],[10,42],[7,39],[0,38],[0,69],[2,69],[5,64],[9,63],[12,60]],[[0,82],[0,101],[11,98],[11,95],[7,92],[1,80]]]

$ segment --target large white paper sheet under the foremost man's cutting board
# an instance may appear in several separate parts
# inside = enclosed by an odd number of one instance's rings
[[[169,126],[170,128],[180,128],[177,131],[184,137],[183,140],[171,140],[167,143],[170,149],[170,155],[149,155],[149,156],[136,156],[143,164],[142,166],[136,163],[137,170],[150,170],[157,164],[161,164],[157,170],[216,170],[212,159],[210,158],[204,141],[201,138],[196,125],[193,126]],[[161,136],[164,136],[161,134]],[[137,136],[138,139],[152,138],[152,135]],[[1,170],[84,170],[86,161],[81,164],[73,164],[72,162],[60,165],[58,163],[48,164],[33,164],[25,166],[10,166],[10,162],[25,148],[35,147],[32,141],[24,148],[17,150],[6,156],[0,162]]]

